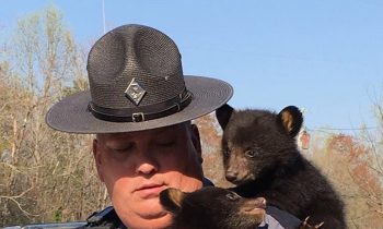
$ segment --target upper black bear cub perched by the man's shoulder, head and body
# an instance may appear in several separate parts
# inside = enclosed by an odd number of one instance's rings
[[[216,116],[223,130],[225,178],[236,184],[234,192],[243,197],[263,196],[300,219],[310,216],[313,225],[324,222],[323,229],[346,228],[343,202],[297,147],[303,123],[297,107],[274,113],[224,105]]]

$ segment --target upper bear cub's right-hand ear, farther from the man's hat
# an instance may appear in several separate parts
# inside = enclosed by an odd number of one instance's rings
[[[277,122],[286,134],[295,137],[302,128],[303,116],[298,107],[288,106],[278,113]]]

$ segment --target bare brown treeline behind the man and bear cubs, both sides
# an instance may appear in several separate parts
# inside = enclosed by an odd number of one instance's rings
[[[88,88],[88,48],[76,43],[55,8],[21,19],[0,43],[0,227],[83,220],[109,204],[93,166],[93,136],[53,131],[44,120],[55,101]],[[316,132],[302,149],[347,203],[349,228],[383,228],[383,101],[371,106],[380,128],[373,134]],[[207,177],[230,185],[214,117],[196,122]]]

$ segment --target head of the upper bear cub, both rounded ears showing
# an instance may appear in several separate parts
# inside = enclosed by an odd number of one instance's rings
[[[295,136],[303,123],[294,106],[279,113],[268,110],[234,110],[224,105],[216,111],[223,130],[225,178],[235,184],[254,181],[285,166],[297,156]]]

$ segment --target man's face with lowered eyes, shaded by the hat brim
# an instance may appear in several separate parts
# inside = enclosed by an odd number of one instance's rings
[[[182,123],[149,131],[98,134],[93,154],[100,179],[128,228],[163,228],[171,216],[159,193],[167,188],[193,192],[202,186],[196,126]]]

